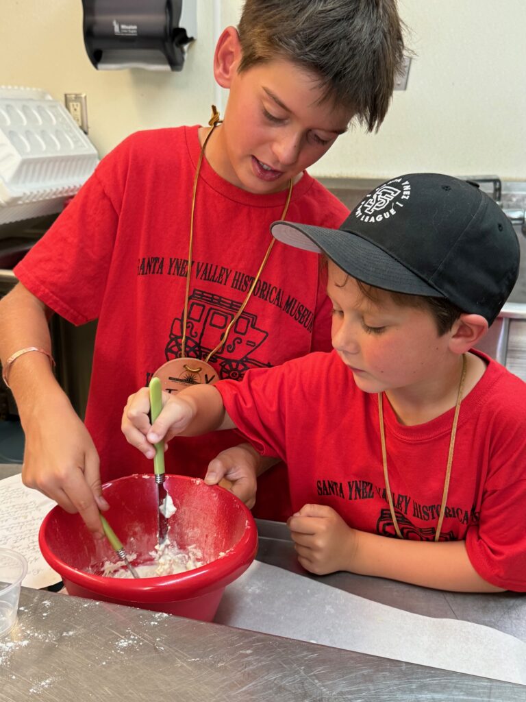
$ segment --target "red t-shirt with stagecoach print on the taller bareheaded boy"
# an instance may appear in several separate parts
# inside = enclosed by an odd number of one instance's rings
[[[69,322],[98,319],[86,425],[103,482],[151,472],[121,435],[124,404],[178,355],[186,284],[198,127],[144,131],[105,157],[46,235],[15,268],[36,297]],[[259,195],[227,183],[206,159],[196,194],[187,355],[217,344],[217,319],[247,294],[267,251],[269,225],[287,192]],[[287,218],[337,227],[348,210],[304,173]],[[316,254],[276,242],[245,311],[218,352],[222,377],[330,349],[330,304]],[[199,312],[199,314],[197,314]],[[190,337],[190,335],[189,335]],[[236,432],[173,439],[166,470],[203,477]],[[286,471],[271,470],[255,513],[290,515]]]

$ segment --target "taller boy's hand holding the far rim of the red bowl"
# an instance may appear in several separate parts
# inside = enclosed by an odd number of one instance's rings
[[[257,457],[254,449],[241,444],[231,446],[221,451],[208,464],[205,483],[208,485],[222,484],[228,480],[231,484],[227,489],[252,509],[256,501],[257,489]],[[223,485],[227,487],[227,485]]]

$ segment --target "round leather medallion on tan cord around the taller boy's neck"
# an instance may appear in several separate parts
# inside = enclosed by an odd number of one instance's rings
[[[250,286],[250,289],[248,290],[248,293],[247,293],[247,296],[245,297],[245,300],[243,300],[243,303],[241,303],[241,305],[239,305],[238,310],[236,311],[236,314],[233,315],[229,324],[227,324],[226,329],[224,329],[224,331],[222,332],[222,334],[220,336],[220,341],[217,344],[217,346],[215,346],[210,352],[208,352],[208,354],[205,356],[204,359],[185,356],[184,354],[185,354],[185,351],[187,350],[187,331],[189,331],[187,329],[187,327],[188,327],[188,303],[189,303],[189,294],[190,294],[190,273],[191,273],[191,265],[192,265],[192,249],[193,249],[193,242],[194,242],[194,209],[195,209],[195,203],[196,203],[197,183],[198,183],[198,179],[199,179],[199,171],[201,169],[201,163],[203,161],[203,156],[205,153],[206,143],[208,142],[210,135],[213,133],[213,131],[215,130],[217,125],[220,124],[219,113],[217,112],[214,105],[212,105],[212,119],[210,119],[208,124],[210,125],[211,129],[208,132],[208,134],[206,135],[206,138],[203,142],[203,146],[201,147],[201,154],[199,155],[199,160],[198,160],[197,167],[196,167],[196,174],[194,177],[194,192],[192,194],[192,206],[191,206],[191,216],[190,216],[190,241],[189,241],[188,266],[187,266],[187,282],[186,282],[186,293],[184,296],[184,312],[183,312],[182,325],[181,325],[182,326],[181,357],[170,359],[165,364],[163,364],[160,368],[158,368],[154,373],[154,377],[159,378],[159,380],[161,380],[161,388],[163,390],[165,390],[165,392],[170,392],[170,394],[173,394],[175,392],[180,392],[180,390],[184,390],[184,388],[189,388],[191,385],[199,385],[201,383],[203,383],[205,385],[214,385],[214,383],[217,383],[217,380],[220,379],[217,371],[215,371],[214,367],[210,365],[209,361],[221,349],[221,347],[224,347],[224,345],[227,343],[227,338],[229,336],[229,333],[230,333],[232,327],[238,321],[239,317],[241,317],[241,314],[243,314],[243,310],[245,309],[245,306],[247,305],[248,300],[250,299],[250,296],[252,295],[252,292],[254,291],[257,282],[259,281],[259,277],[262,274],[262,270],[263,270],[263,268],[264,268],[265,264],[267,263],[267,260],[270,256],[270,253],[272,251],[272,247],[274,246],[274,241],[276,241],[275,239],[271,239],[269,247],[267,249],[267,252],[264,255],[264,258],[262,260],[261,265],[259,266],[259,270],[257,271],[257,274],[255,275],[254,280],[252,281],[252,285]],[[288,194],[287,194],[287,198],[285,200],[285,207],[283,208],[283,213],[281,214],[281,218],[280,218],[282,220],[285,219],[285,215],[288,211],[290,198],[292,197],[292,186],[293,186],[293,182],[291,179],[289,181]],[[189,345],[191,345],[191,351],[190,351],[191,353],[198,351],[198,347],[196,347],[195,340],[190,339]]]

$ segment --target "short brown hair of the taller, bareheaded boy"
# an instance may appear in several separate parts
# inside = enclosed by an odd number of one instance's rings
[[[373,131],[403,64],[402,27],[396,0],[245,0],[239,71],[288,59],[318,75],[323,100]]]

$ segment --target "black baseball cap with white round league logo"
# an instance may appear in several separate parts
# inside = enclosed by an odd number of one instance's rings
[[[447,298],[491,324],[518,277],[510,220],[473,183],[410,173],[382,183],[339,229],[278,221],[278,241],[317,251],[366,284]]]

